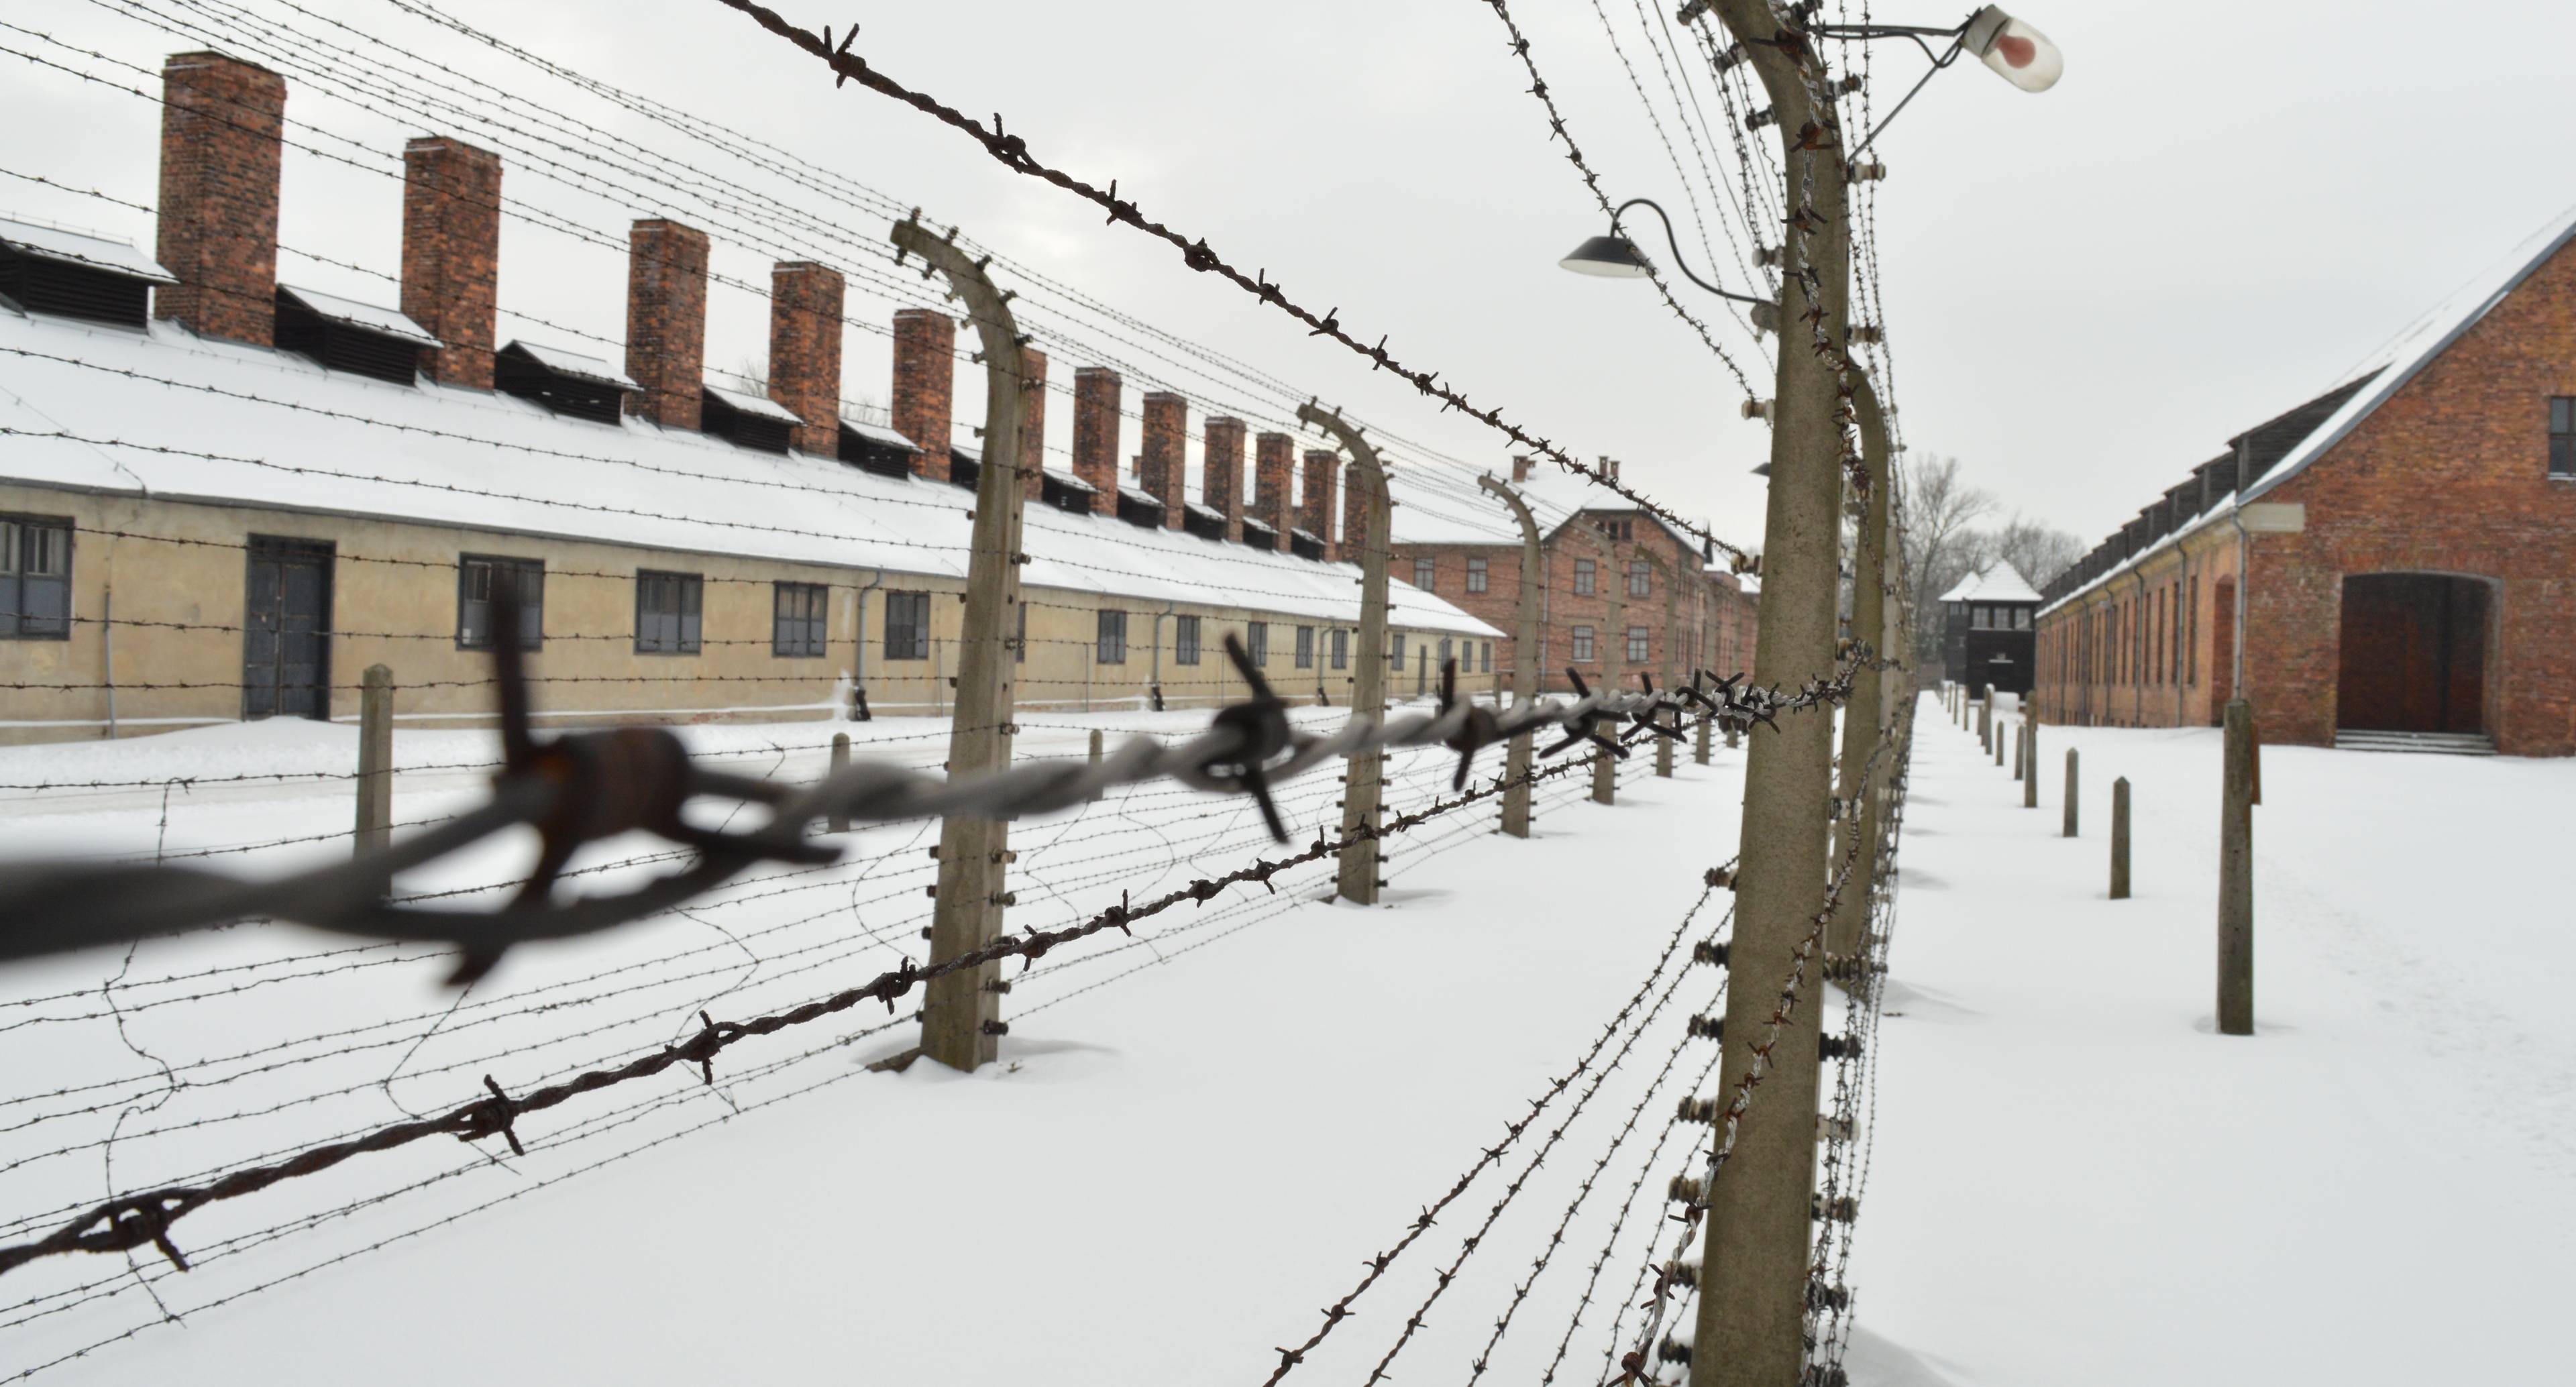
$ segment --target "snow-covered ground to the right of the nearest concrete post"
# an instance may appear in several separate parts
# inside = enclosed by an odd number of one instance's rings
[[[2576,762],[2267,746],[2239,1040],[2215,731],[2043,728],[2025,811],[1976,733],[1919,728],[1852,1279],[1940,1374],[1855,1379],[2566,1382]]]

